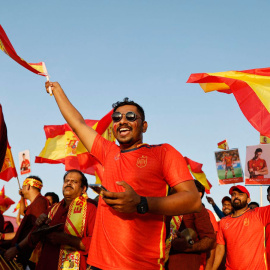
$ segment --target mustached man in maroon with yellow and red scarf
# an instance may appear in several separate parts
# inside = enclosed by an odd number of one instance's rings
[[[46,234],[33,252],[36,270],[86,269],[96,218],[96,202],[83,196],[87,188],[87,178],[81,171],[70,170],[64,175],[64,199],[51,208],[48,216],[43,214],[36,221],[39,227],[62,223],[55,232]],[[33,241],[32,236],[29,241]]]

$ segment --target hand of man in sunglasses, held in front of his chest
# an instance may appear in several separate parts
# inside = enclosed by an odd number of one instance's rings
[[[141,201],[134,189],[124,181],[116,182],[117,185],[125,188],[124,192],[110,192],[102,191],[101,196],[105,203],[111,206],[114,210],[121,213],[134,213],[137,212],[137,205]]]

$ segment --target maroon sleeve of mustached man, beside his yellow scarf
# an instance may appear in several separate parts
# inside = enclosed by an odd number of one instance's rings
[[[87,203],[87,220],[86,220],[86,230],[84,236],[82,237],[82,243],[85,246],[85,251],[80,251],[80,254],[87,256],[89,252],[89,247],[93,235],[94,224],[96,220],[97,207],[92,203]]]

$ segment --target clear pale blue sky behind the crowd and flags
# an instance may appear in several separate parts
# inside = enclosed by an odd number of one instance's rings
[[[227,138],[230,148],[239,148],[244,167],[246,146],[258,144],[259,134],[233,95],[205,94],[186,81],[191,73],[268,67],[269,11],[269,1],[6,1],[0,24],[19,56],[46,63],[51,80],[85,118],[100,119],[124,97],[141,104],[149,124],[144,142],[170,143],[203,163],[220,206],[230,185],[218,185],[217,143]],[[18,153],[29,149],[42,193],[62,198],[64,165],[34,164],[45,144],[43,126],[65,122],[45,92],[45,78],[1,51],[0,70],[0,103],[17,170]],[[17,180],[1,185],[17,203]],[[248,189],[259,202],[260,188]],[[263,199],[267,204],[266,187]]]

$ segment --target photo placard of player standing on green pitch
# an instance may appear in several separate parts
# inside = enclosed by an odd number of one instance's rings
[[[238,149],[217,151],[215,160],[220,185],[244,182]]]

